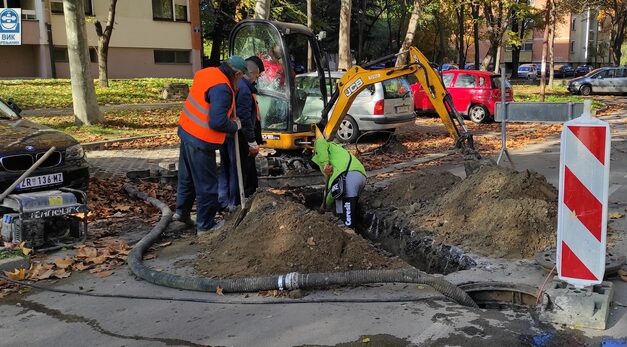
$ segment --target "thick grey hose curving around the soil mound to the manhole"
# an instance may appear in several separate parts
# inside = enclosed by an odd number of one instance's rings
[[[172,210],[156,198],[140,192],[136,187],[125,184],[124,190],[136,198],[142,199],[161,210],[161,219],[133,247],[128,255],[131,272],[150,283],[170,288],[215,292],[257,292],[262,290],[293,290],[323,288],[334,285],[360,285],[367,283],[417,283],[426,284],[455,302],[470,307],[478,307],[466,292],[443,278],[428,275],[416,269],[401,270],[358,270],[348,272],[307,273],[297,272],[278,276],[248,277],[237,279],[211,279],[202,277],[180,276],[162,271],[155,271],[143,264],[143,254],[160,237],[172,219]]]

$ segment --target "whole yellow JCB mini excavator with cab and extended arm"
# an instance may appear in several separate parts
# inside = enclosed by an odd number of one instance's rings
[[[324,32],[316,35],[304,25],[268,20],[244,20],[231,31],[229,53],[245,58],[258,56],[265,68],[257,81],[257,101],[264,147],[274,153],[257,158],[262,176],[287,175],[293,180],[294,171],[302,174],[310,170],[310,163],[299,156],[299,152],[315,138],[332,139],[360,92],[372,88],[375,83],[408,75],[414,75],[426,91],[465,159],[480,158],[472,134],[453,107],[440,75],[417,48],[410,47],[403,53],[408,58],[408,63],[403,66],[368,69],[397,56],[390,55],[363,67],[351,67],[335,84],[328,68],[328,55],[321,52],[318,44],[324,36]],[[306,68],[308,61],[310,66]],[[315,71],[307,74],[313,78],[297,77],[307,70]],[[269,185],[286,183],[280,181]]]

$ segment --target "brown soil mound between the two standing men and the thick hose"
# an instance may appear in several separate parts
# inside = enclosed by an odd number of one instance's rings
[[[270,192],[255,195],[236,229],[227,226],[200,242],[195,270],[218,278],[407,266],[327,215]]]

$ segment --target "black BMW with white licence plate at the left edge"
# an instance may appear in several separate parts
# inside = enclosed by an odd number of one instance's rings
[[[71,136],[19,116],[19,108],[0,100],[0,192],[51,147],[56,150],[15,192],[59,187],[86,190],[89,168],[81,145]]]

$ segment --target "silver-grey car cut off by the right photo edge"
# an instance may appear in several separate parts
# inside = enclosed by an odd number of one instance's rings
[[[602,67],[568,82],[572,94],[627,93],[627,66]]]

